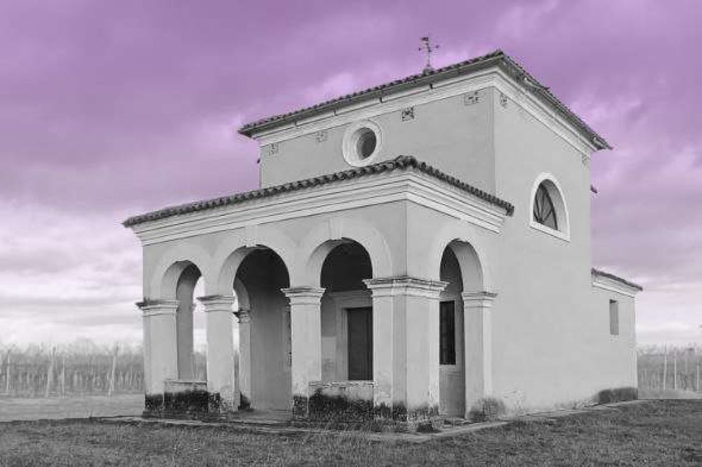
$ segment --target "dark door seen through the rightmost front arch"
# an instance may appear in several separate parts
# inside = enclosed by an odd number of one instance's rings
[[[373,309],[349,308],[348,379],[373,380]]]

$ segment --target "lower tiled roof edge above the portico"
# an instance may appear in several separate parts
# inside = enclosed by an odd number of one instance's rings
[[[488,203],[494,204],[500,208],[503,208],[507,215],[511,216],[515,208],[511,203],[504,201],[497,196],[477,189],[470,184],[461,182],[456,177],[451,177],[441,170],[432,167],[428,163],[420,162],[413,156],[398,156],[390,161],[375,163],[371,165],[366,165],[366,167],[354,168],[350,170],[343,170],[342,172],[335,172],[330,175],[320,175],[319,177],[307,178],[305,180],[300,180],[298,182],[289,182],[275,187],[267,187],[253,191],[245,191],[244,193],[234,194],[231,196],[223,196],[220,198],[213,198],[204,201],[195,201],[194,203],[187,203],[178,206],[172,206],[169,208],[160,209],[157,211],[147,212],[143,215],[133,216],[122,222],[125,227],[135,226],[137,224],[143,224],[144,222],[151,222],[159,219],[166,219],[166,217],[173,217],[176,215],[187,214],[189,212],[197,212],[202,210],[208,210],[212,208],[218,208],[226,205],[234,205],[238,203],[243,203],[244,201],[249,201],[253,199],[267,198],[268,196],[273,196],[276,194],[287,193],[290,191],[297,191],[300,189],[316,187],[318,185],[324,185],[332,182],[337,182],[340,180],[347,180],[350,178],[363,177],[364,175],[371,175],[381,172],[390,172],[392,170],[405,169],[405,168],[416,168],[420,172],[436,177],[453,187],[459,188],[463,191],[467,191],[473,196],[477,196]]]

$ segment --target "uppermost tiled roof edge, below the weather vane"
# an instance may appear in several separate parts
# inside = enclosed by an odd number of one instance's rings
[[[562,114],[567,121],[572,123],[579,130],[583,131],[583,133],[586,133],[591,138],[591,142],[595,145],[595,147],[599,147],[600,149],[612,149],[607,140],[598,135],[595,130],[592,130],[592,128],[590,128],[587,123],[585,123],[577,114],[575,114],[574,111],[571,111],[571,109],[558,100],[547,87],[539,83],[534,76],[531,76],[531,74],[529,74],[529,72],[527,72],[522,65],[519,65],[519,63],[517,63],[512,57],[506,55],[499,49],[486,55],[465,60],[464,62],[458,62],[447,67],[432,70],[430,72],[406,76],[405,78],[390,81],[389,83],[383,83],[378,86],[374,86],[373,88],[360,90],[355,93],[336,97],[325,102],[320,102],[319,104],[315,104],[310,107],[303,107],[302,109],[293,110],[287,112],[286,114],[268,116],[265,119],[246,123],[244,126],[239,128],[239,133],[241,135],[251,137],[251,135],[257,131],[275,128],[277,126],[284,125],[285,123],[289,123],[289,121],[292,120],[304,119],[308,116],[321,114],[325,111],[347,107],[348,105],[363,102],[364,100],[375,99],[376,97],[382,97],[390,90],[397,91],[402,90],[402,88],[422,86],[424,84],[441,81],[442,79],[448,79],[451,76],[457,76],[463,72],[473,71],[475,69],[480,69],[481,67],[487,67],[493,64],[502,65],[508,72],[510,72],[509,74],[513,78],[517,79],[517,81],[526,76],[531,83],[536,85],[529,86],[534,95],[541,97],[542,100],[555,107],[555,109],[557,109],[557,111],[559,111],[559,113]]]

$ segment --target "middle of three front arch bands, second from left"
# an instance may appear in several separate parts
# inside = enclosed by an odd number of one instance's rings
[[[230,295],[234,279],[237,276],[239,265],[249,253],[257,248],[268,248],[282,259],[292,276],[296,245],[293,241],[277,231],[269,229],[243,229],[232,236],[228,236],[220,243],[214,255],[213,270],[217,271],[216,280],[211,281],[210,287],[206,285],[208,295]]]

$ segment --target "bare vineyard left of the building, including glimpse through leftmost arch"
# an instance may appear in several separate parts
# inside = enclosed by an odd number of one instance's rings
[[[0,344],[0,396],[68,397],[144,391],[141,346]],[[195,355],[197,379],[206,379],[204,353]]]

